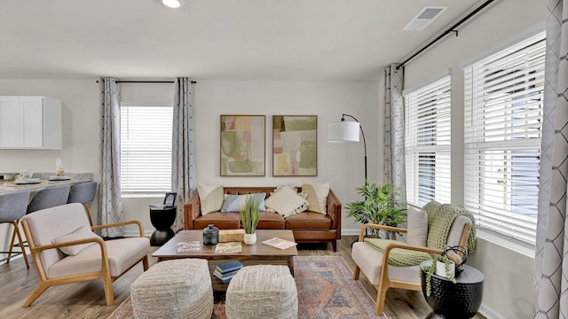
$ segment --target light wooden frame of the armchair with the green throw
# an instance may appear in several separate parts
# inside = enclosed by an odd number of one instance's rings
[[[367,223],[367,224],[363,225],[363,227],[359,231],[359,240],[358,240],[359,242],[362,242],[362,241],[365,240],[365,230],[368,230],[368,229],[389,230],[389,231],[396,231],[396,232],[400,232],[400,233],[406,233],[407,232],[407,230],[403,229],[403,228]],[[465,224],[465,226],[463,227],[463,231],[461,232],[460,244],[459,245],[462,245],[464,247],[467,245],[470,230],[471,230],[471,225]],[[393,243],[390,243],[389,245],[386,245],[384,252],[383,252],[383,263],[382,263],[383,266],[381,267],[381,274],[379,275],[379,284],[374,284],[374,286],[376,288],[376,292],[377,292],[375,315],[383,314],[384,299],[386,297],[386,293],[389,290],[389,288],[401,288],[401,289],[418,291],[418,292],[422,291],[422,284],[420,284],[420,283],[390,279],[390,277],[389,277],[389,253],[390,253],[391,250],[393,250],[395,248],[402,248],[402,249],[406,249],[406,250],[412,250],[412,251],[424,252],[424,253],[435,253],[435,254],[441,254],[443,252],[440,249],[435,249],[435,248],[430,248],[430,247],[422,247],[422,246],[416,246],[416,245],[408,245],[404,242],[393,242]],[[353,270],[353,279],[358,280],[359,279],[359,273],[360,273],[359,266],[357,266],[357,264],[355,264],[355,269]]]

